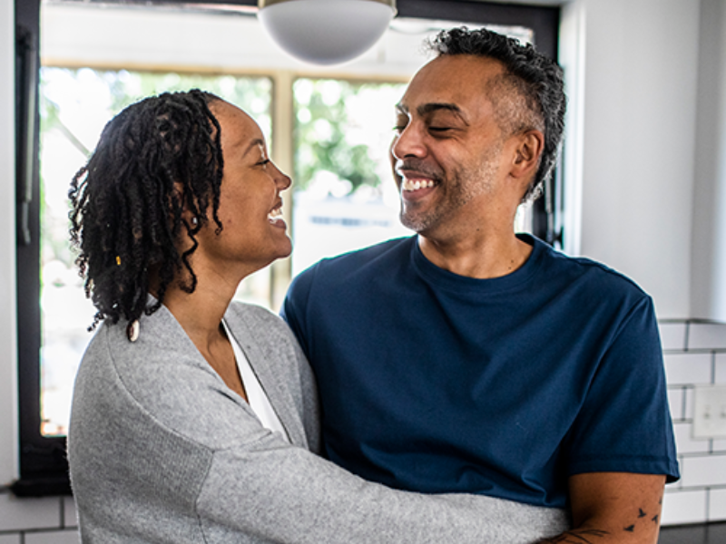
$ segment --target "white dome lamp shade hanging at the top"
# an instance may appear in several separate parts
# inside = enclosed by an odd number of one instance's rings
[[[258,0],[258,18],[276,44],[313,64],[365,53],[396,15],[396,0]]]

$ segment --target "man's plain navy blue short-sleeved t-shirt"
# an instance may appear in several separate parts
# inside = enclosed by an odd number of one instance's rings
[[[567,479],[678,478],[652,300],[544,242],[505,277],[461,277],[417,238],[326,259],[282,315],[318,378],[325,451],[370,481],[549,507]]]

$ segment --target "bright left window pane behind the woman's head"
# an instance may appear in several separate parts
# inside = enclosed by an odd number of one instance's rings
[[[97,71],[44,67],[41,71],[41,432],[64,435],[74,376],[95,310],[83,295],[68,243],[70,181],[125,106],[164,91],[200,88],[239,105],[270,141],[272,84],[265,77]],[[264,304],[269,275],[249,277],[238,297]],[[269,304],[269,302],[268,302]]]

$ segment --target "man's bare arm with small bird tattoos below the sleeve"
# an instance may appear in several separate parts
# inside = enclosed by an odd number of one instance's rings
[[[569,483],[574,529],[540,544],[656,544],[665,476],[589,472]]]

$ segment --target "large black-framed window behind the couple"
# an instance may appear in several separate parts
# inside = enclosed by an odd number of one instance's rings
[[[358,63],[322,71],[263,50],[255,19],[237,11],[208,13],[201,3],[194,13],[151,9],[148,3],[142,3],[147,5],[143,9],[93,4],[54,0],[43,5],[44,43],[53,47],[44,50],[41,92],[36,103],[25,100],[33,97],[30,78],[18,93],[25,101],[20,110],[33,112],[25,128],[32,128],[34,116],[39,120],[39,137],[28,141],[39,142],[41,157],[28,186],[30,243],[21,239],[18,246],[21,481],[15,492],[21,495],[70,491],[64,434],[93,309],[83,297],[66,241],[67,189],[113,113],[153,92],[200,87],[240,105],[260,122],[272,158],[293,174],[289,224],[295,250],[286,262],[247,278],[238,296],[277,310],[291,275],[320,257],[408,234],[397,221],[388,144],[393,104],[410,75],[426,62],[417,56],[426,34],[450,25],[445,21],[454,14],[473,24],[507,25],[507,32],[521,39],[534,34],[541,49],[556,53],[555,8],[397,0],[399,18],[377,51]],[[37,25],[34,2],[16,0],[16,5],[21,17]],[[192,28],[192,16],[193,39],[184,30]],[[182,30],[173,34],[174,28]],[[132,48],[129,35],[134,36]],[[83,38],[92,39],[93,47],[83,44]],[[26,50],[32,60],[33,48]],[[384,57],[388,63],[380,62]],[[27,68],[19,71],[20,81],[24,73],[34,73],[34,66],[22,59],[19,63]],[[548,193],[553,210],[554,194]],[[535,233],[551,238],[546,227],[556,224],[554,214],[543,209],[526,213]]]

